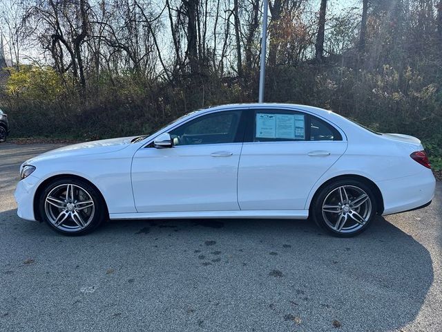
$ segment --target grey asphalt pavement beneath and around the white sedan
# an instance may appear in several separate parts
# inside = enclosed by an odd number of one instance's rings
[[[442,185],[336,239],[309,221],[110,221],[64,237],[17,217],[0,145],[0,331],[442,331]]]

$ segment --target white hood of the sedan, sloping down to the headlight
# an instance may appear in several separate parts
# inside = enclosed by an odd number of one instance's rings
[[[72,157],[72,156],[87,156],[93,154],[105,154],[109,152],[119,151],[128,147],[131,144],[131,140],[137,136],[123,137],[123,138],[111,138],[108,140],[95,140],[92,142],[84,142],[74,145],[67,145],[66,147],[59,147],[58,149],[50,150],[44,154],[27,160],[23,165],[32,165],[39,163],[43,160]]]

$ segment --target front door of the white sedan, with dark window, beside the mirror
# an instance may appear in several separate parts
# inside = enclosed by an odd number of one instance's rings
[[[242,111],[218,111],[169,131],[173,147],[148,145],[133,158],[137,212],[239,210]]]

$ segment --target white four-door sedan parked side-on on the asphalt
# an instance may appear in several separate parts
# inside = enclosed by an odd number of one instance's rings
[[[311,216],[349,237],[430,204],[435,187],[417,138],[295,104],[203,109],[150,136],[46,152],[20,173],[19,216],[64,234],[107,219]]]

